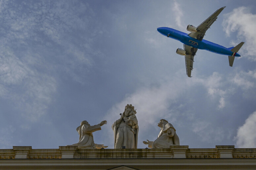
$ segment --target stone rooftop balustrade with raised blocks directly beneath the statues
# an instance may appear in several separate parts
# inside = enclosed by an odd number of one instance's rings
[[[171,146],[170,149],[78,149],[60,146],[59,149],[32,149],[31,146],[13,146],[0,149],[0,159],[120,159],[120,158],[256,158],[256,148],[235,148],[219,145],[215,148],[189,148]]]

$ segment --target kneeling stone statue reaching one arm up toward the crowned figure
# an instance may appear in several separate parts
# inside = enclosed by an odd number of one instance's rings
[[[97,130],[101,130],[101,126],[107,124],[107,121],[102,121],[98,125],[91,126],[87,121],[82,121],[81,125],[76,128],[76,131],[78,131],[79,134],[79,142],[75,143],[73,145],[67,145],[67,146],[77,146],[78,149],[101,149],[101,148],[107,148],[107,146],[99,145],[94,143],[93,140],[93,132]]]

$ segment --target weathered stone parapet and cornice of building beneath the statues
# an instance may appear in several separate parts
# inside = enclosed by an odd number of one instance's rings
[[[230,153],[233,157],[221,158]],[[25,159],[12,159],[26,153]],[[0,169],[255,169],[256,148],[216,146],[190,149],[32,149],[31,146],[0,149]],[[61,158],[61,159],[60,159]]]

